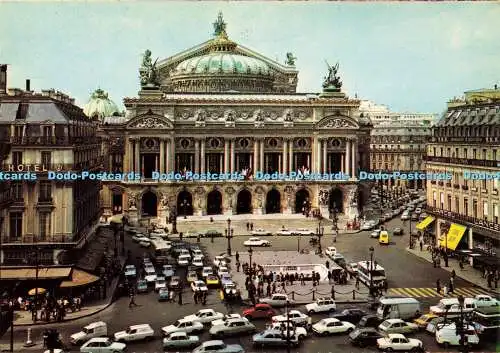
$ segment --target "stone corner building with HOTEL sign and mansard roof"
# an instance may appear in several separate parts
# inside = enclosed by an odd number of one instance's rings
[[[12,146],[2,177],[18,176],[0,229],[2,265],[26,265],[35,248],[40,263],[57,264],[64,250],[85,244],[100,218],[99,181],[48,178],[48,171],[101,167],[97,123],[67,95],[42,92],[32,92],[27,80],[26,90],[0,93],[0,140]]]

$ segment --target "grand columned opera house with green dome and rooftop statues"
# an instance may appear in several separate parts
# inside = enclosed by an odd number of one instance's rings
[[[278,63],[231,41],[222,16],[214,38],[156,65],[144,57],[142,89],[126,98],[125,117],[102,125],[109,169],[140,180],[105,182],[105,214],[165,223],[183,215],[300,213],[304,204],[328,217],[335,205],[358,215],[366,190],[371,124],[360,101],[341,92],[329,67],[322,93],[296,93],[295,58]],[[340,173],[344,180],[257,180],[263,173]],[[245,180],[158,181],[160,173],[246,173]],[[253,177],[249,175],[252,174]]]

